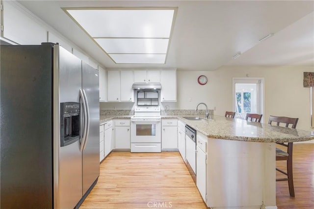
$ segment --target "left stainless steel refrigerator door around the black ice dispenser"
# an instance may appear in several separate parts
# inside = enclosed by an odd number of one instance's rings
[[[57,209],[74,208],[82,197],[82,153],[80,141],[60,147],[60,103],[79,103],[81,60],[54,46],[54,204]]]

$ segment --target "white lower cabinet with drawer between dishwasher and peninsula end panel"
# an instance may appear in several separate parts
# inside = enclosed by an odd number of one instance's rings
[[[207,137],[196,134],[196,186],[207,203]]]

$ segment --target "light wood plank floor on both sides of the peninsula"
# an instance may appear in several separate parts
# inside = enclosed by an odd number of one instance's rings
[[[295,144],[293,155],[295,198],[289,196],[288,182],[277,182],[277,207],[313,209],[314,144]],[[80,209],[148,209],[154,204],[207,208],[177,152],[111,153],[101,163],[98,183]]]

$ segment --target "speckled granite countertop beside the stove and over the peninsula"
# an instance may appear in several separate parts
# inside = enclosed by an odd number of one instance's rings
[[[131,118],[132,115],[101,115],[100,124],[114,118]],[[185,115],[161,115],[161,118],[178,118],[209,138],[252,142],[297,142],[314,139],[314,131],[278,127],[237,118],[213,116],[209,120],[193,121]],[[204,118],[204,115],[186,115]]]

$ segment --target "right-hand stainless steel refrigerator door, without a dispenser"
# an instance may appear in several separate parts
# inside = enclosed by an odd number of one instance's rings
[[[82,88],[89,106],[89,131],[83,149],[83,194],[99,177],[99,72],[82,63]]]

